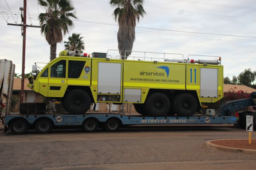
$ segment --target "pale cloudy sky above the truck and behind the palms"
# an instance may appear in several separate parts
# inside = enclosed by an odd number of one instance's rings
[[[74,20],[74,28],[63,41],[67,41],[72,33],[79,33],[84,37],[84,52],[88,54],[118,49],[118,24],[112,16],[115,8],[110,6],[109,0],[72,0],[72,3],[78,20]],[[22,69],[21,28],[8,26],[6,20],[21,24],[20,6],[23,6],[23,0],[0,1],[0,59],[12,60],[16,73],[21,73]],[[38,6],[36,0],[27,0],[27,6],[27,24],[39,26],[38,14],[45,9]],[[144,10],[146,15],[136,25],[133,51],[178,53],[184,58],[188,55],[221,56],[224,77],[231,79],[244,69],[256,70],[254,0],[145,0]],[[25,73],[29,73],[35,62],[50,61],[50,45],[41,35],[40,28],[27,28],[26,34]],[[63,42],[57,44],[57,54],[62,50]],[[112,51],[111,55],[115,58],[117,51]],[[144,53],[132,55],[144,56]],[[155,56],[163,57],[162,54]],[[180,59],[180,56],[170,57]]]

